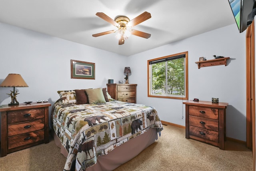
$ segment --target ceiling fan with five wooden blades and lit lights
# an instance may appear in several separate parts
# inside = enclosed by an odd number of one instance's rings
[[[151,36],[151,34],[141,32],[138,30],[134,30],[134,29],[128,30],[128,28],[132,28],[133,26],[136,26],[144,22],[145,20],[148,20],[149,18],[151,18],[151,14],[149,12],[143,12],[142,14],[140,14],[139,16],[135,17],[132,20],[129,20],[129,18],[126,16],[117,16],[115,20],[113,20],[103,12],[97,12],[96,16],[116,26],[118,30],[110,30],[102,33],[93,34],[92,35],[93,37],[103,36],[106,34],[117,32],[118,34],[116,35],[116,38],[119,39],[118,44],[122,45],[124,44],[124,40],[126,40],[130,36],[130,34],[135,36],[140,36],[146,39],[150,38]]]

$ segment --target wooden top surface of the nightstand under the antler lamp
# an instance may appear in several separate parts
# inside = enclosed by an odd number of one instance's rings
[[[20,110],[20,109],[31,109],[31,108],[37,108],[37,107],[47,107],[51,106],[51,103],[48,102],[33,102],[30,104],[26,103],[20,103],[19,105],[1,105],[0,106],[0,111],[12,111],[12,110]]]

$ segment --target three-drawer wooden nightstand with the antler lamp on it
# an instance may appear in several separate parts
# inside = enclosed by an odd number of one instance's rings
[[[1,153],[8,153],[49,142],[48,107],[51,103],[2,105]]]

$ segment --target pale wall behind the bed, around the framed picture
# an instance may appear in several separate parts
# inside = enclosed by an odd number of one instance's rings
[[[71,79],[70,60],[95,63],[95,80]],[[108,79],[124,80],[126,61],[112,52],[0,23],[0,82],[10,73],[21,74],[29,87],[16,87],[20,103],[47,99],[53,104],[58,90],[106,87]],[[0,105],[10,103],[10,90],[0,87]]]

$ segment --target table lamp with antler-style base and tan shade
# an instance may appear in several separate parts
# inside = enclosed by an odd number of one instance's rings
[[[16,95],[18,95],[19,93],[17,93],[17,90],[15,91],[15,87],[28,87],[28,85],[23,80],[20,74],[8,74],[8,76],[0,84],[0,87],[13,87],[13,91],[10,90],[11,93],[8,94],[11,96],[12,99],[11,103],[9,103],[8,105],[18,105],[19,102],[17,101]]]

